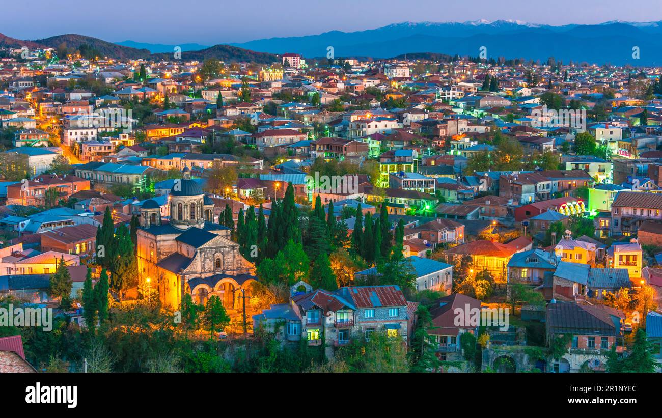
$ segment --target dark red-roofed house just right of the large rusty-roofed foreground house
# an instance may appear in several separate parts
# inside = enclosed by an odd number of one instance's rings
[[[428,334],[432,337],[431,342],[440,360],[462,360],[460,337],[463,333],[478,335],[479,324],[471,321],[462,321],[458,324],[458,312],[466,316],[472,310],[480,309],[481,301],[459,293],[444,296],[434,302],[430,308],[432,327]]]

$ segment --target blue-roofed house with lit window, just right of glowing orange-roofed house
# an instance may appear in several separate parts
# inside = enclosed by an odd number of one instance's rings
[[[545,272],[554,272],[559,259],[543,249],[514,253],[508,261],[508,283],[542,284]]]

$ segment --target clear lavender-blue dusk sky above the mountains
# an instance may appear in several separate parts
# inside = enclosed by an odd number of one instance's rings
[[[3,1],[0,32],[24,40],[66,33],[109,42],[203,45],[352,32],[411,21],[514,19],[540,24],[661,21],[659,0],[80,0]],[[15,17],[15,19],[12,19]]]

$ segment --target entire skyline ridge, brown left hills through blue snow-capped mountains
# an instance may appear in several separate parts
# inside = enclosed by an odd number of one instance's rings
[[[225,61],[254,61],[269,64],[277,55],[295,52],[306,58],[324,57],[328,47],[336,58],[424,58],[445,54],[479,56],[487,48],[488,58],[524,58],[545,61],[549,57],[568,63],[612,63],[662,65],[662,21],[610,21],[600,24],[551,26],[523,21],[401,22],[381,28],[316,35],[258,39],[249,42],[179,44],[183,60],[218,58]],[[90,36],[64,34],[38,40],[19,40],[0,34],[0,46],[68,48],[86,45],[100,54],[119,59],[171,57],[175,45],[149,44],[125,40],[107,42]],[[635,48],[637,47],[637,48]],[[634,50],[639,58],[634,58]],[[260,51],[260,52],[257,52]],[[431,55],[432,54],[432,55]],[[171,59],[171,58],[170,58]]]

